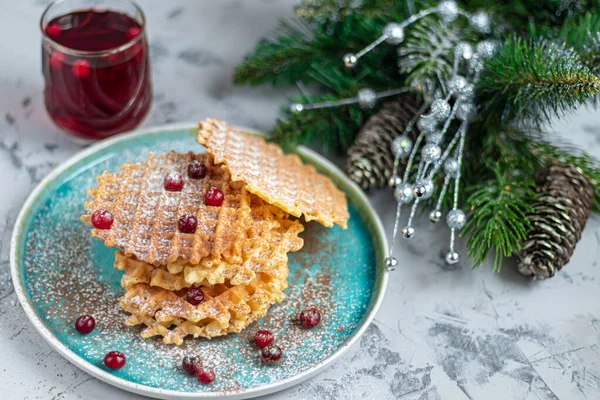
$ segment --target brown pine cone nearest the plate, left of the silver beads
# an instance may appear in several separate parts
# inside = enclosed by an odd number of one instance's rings
[[[403,133],[418,110],[414,98],[403,96],[384,104],[361,128],[348,150],[346,173],[363,190],[387,185],[394,168],[392,141]]]

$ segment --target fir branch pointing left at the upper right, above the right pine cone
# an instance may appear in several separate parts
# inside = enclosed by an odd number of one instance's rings
[[[486,63],[478,86],[488,123],[540,125],[600,91],[600,78],[576,52],[552,42],[510,38]]]

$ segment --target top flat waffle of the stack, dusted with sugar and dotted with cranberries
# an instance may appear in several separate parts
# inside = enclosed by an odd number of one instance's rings
[[[206,177],[190,179],[187,167],[191,160],[200,160],[207,167]],[[169,172],[179,172],[184,178],[180,192],[163,187]],[[244,263],[244,246],[270,247],[255,232],[269,229],[281,213],[233,182],[229,174],[215,165],[207,155],[170,152],[150,154],[147,161],[126,163],[117,173],[104,172],[97,178],[98,187],[91,189],[91,200],[81,219],[91,223],[91,214],[106,209],[113,215],[110,229],[92,229],[108,247],[117,246],[141,261],[164,265],[177,260],[199,264],[203,258],[230,264]],[[219,188],[225,195],[220,207],[207,206],[204,196],[210,187]],[[182,233],[177,224],[184,214],[194,214],[198,228],[193,234]],[[268,235],[267,235],[268,236]],[[247,240],[249,239],[249,240]]]

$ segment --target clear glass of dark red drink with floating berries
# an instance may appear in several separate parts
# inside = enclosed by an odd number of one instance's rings
[[[59,0],[40,21],[44,100],[78,141],[135,128],[152,103],[146,20],[128,0]]]

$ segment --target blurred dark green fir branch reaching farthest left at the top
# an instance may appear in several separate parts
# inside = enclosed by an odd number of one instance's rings
[[[402,9],[387,9],[377,17],[360,11],[343,19],[306,23],[300,19],[280,23],[275,31],[261,40],[235,70],[237,85],[294,84],[298,80],[311,83],[310,72],[342,65],[346,53],[364,48],[381,35],[390,20],[402,20],[408,14]],[[382,45],[361,59],[360,68],[346,69],[348,77],[366,76],[366,71],[385,75],[386,82],[398,80],[395,48]],[[360,71],[360,72],[357,72]],[[388,83],[389,84],[389,83]]]

